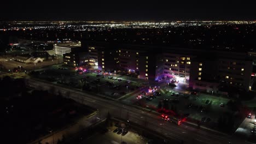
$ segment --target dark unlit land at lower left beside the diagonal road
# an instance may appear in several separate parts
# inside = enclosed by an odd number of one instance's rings
[[[28,93],[25,88],[25,91],[15,89],[14,92],[9,92],[9,87],[22,86],[22,82],[15,81],[2,89],[5,95],[1,95],[0,122],[4,143],[27,143],[36,140],[95,111],[48,91]]]

